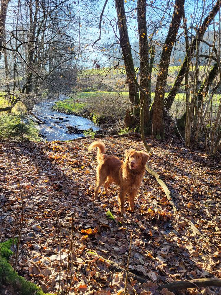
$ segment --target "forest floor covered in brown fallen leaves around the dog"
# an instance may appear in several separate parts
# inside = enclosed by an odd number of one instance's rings
[[[70,294],[123,294],[125,272],[111,271],[100,256],[127,265],[131,230],[133,239],[129,270],[147,279],[128,281],[128,294],[164,294],[157,286],[192,278],[221,278],[221,158],[208,159],[174,138],[148,139],[149,166],[161,175],[179,206],[174,212],[155,178],[147,172],[136,198],[135,212],[127,218],[118,212],[117,186],[110,197],[93,200],[96,152],[88,153],[92,139],[69,142],[17,143],[18,167],[24,198],[24,226],[17,271],[56,292],[71,277]],[[106,154],[124,158],[124,150],[141,150],[137,138],[108,138]],[[14,142],[0,143],[1,241],[16,234],[21,216],[21,196]],[[107,219],[110,210],[115,220]],[[71,223],[73,217],[73,255]],[[191,220],[205,238],[194,235]],[[61,225],[61,242],[59,231]],[[61,251],[60,251],[61,244]],[[100,256],[93,255],[97,253]],[[66,288],[64,286],[64,288]],[[188,289],[182,294],[221,294],[221,288]],[[5,293],[3,293],[5,294]]]

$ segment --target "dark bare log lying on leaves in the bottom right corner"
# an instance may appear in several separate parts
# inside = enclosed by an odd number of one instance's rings
[[[198,287],[221,287],[221,280],[212,279],[212,278],[197,278],[195,280],[189,281],[175,281],[172,283],[160,285],[158,290],[162,290],[163,288],[167,288],[168,290],[182,290],[188,288],[196,288]]]

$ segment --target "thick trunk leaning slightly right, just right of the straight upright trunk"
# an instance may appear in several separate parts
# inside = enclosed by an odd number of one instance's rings
[[[163,119],[163,108],[164,108],[164,95],[166,78],[168,74],[170,56],[173,49],[173,45],[176,41],[177,32],[179,30],[180,22],[184,12],[185,0],[176,0],[174,4],[173,17],[170,23],[169,31],[163,46],[161,54],[159,73],[156,81],[156,90],[154,103],[152,105],[153,120],[152,130],[154,135],[158,135],[164,138],[164,119]]]

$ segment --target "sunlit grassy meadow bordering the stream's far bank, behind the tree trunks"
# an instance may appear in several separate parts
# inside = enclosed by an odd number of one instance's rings
[[[165,98],[168,96],[165,93]],[[155,93],[151,93],[151,101],[154,100]],[[221,95],[218,94],[215,100],[213,99],[213,107],[219,104]],[[88,116],[97,124],[104,118],[109,118],[111,121],[123,119],[126,109],[129,104],[128,92],[108,92],[108,91],[89,91],[78,92],[70,99],[56,102],[54,109],[65,112],[75,113],[80,116]],[[170,114],[176,118],[182,116],[186,109],[186,98],[184,93],[178,93],[172,104]]]

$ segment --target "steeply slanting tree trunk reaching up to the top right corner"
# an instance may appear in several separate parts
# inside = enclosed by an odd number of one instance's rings
[[[215,18],[217,12],[219,11],[220,9],[220,6],[221,6],[221,1],[220,0],[217,0],[216,1],[216,4],[213,6],[213,9],[211,10],[211,12],[208,14],[208,16],[204,19],[203,23],[202,23],[202,26],[199,27],[199,29],[197,30],[197,34],[196,34],[196,37],[194,38],[194,40],[192,41],[192,44],[190,45],[189,47],[189,50],[190,50],[190,56],[192,57],[196,48],[197,48],[197,36],[198,36],[198,42],[202,41],[202,37],[204,35],[204,33],[206,32],[209,24],[212,22],[212,20]],[[187,65],[187,56],[185,56],[184,58],[184,61],[183,61],[183,64],[179,70],[179,73],[177,75],[177,78],[174,82],[174,85],[173,87],[171,88],[167,98],[166,98],[166,101],[165,101],[165,106],[164,108],[169,111],[173,102],[174,102],[174,99],[175,99],[175,96],[177,94],[177,91],[179,90],[180,86],[181,86],[181,83],[183,81],[183,78],[185,76],[185,74],[187,73],[188,71],[188,65]]]

